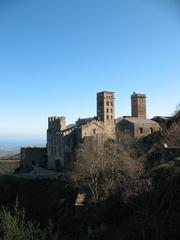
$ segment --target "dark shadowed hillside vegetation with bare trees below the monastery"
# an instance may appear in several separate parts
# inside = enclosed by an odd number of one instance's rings
[[[160,163],[179,136],[180,123],[139,141],[86,138],[66,181],[1,176],[0,239],[180,239],[180,167]]]

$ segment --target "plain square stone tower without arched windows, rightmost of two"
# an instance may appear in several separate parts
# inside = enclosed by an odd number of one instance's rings
[[[146,118],[146,95],[133,93],[131,95],[132,117]]]

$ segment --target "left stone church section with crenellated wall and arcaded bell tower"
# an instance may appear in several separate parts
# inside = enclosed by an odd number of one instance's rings
[[[114,93],[97,93],[97,117],[78,119],[67,125],[65,117],[49,117],[47,130],[47,166],[63,171],[70,166],[74,149],[85,137],[104,134],[115,137]]]

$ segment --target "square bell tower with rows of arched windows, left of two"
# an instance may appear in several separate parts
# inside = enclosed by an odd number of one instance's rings
[[[104,123],[106,132],[114,138],[115,134],[115,107],[113,92],[97,93],[97,118]]]

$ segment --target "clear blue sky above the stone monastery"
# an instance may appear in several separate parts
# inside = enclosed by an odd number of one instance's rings
[[[147,95],[148,117],[180,102],[178,0],[0,0],[0,143],[45,143],[48,116],[116,117]]]

